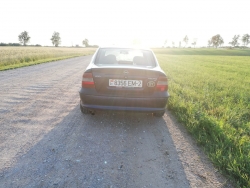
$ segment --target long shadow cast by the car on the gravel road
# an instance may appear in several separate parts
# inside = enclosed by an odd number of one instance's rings
[[[163,118],[76,106],[5,171],[0,187],[190,187]]]

